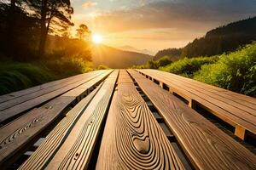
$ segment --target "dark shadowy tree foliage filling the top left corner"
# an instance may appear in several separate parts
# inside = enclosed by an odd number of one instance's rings
[[[30,49],[38,45],[38,19],[23,4],[23,0],[0,0],[0,51],[15,60],[32,57]]]

